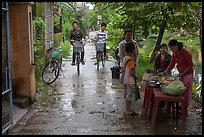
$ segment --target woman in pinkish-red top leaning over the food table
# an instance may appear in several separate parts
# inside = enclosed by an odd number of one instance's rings
[[[179,80],[181,80],[186,86],[184,96],[187,98],[187,104],[189,105],[192,99],[192,84],[193,84],[193,60],[192,54],[183,47],[182,42],[178,42],[172,39],[168,43],[169,48],[173,54],[171,56],[171,62],[164,73],[169,73],[177,64]]]

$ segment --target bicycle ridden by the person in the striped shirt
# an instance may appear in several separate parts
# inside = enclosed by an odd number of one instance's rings
[[[105,57],[104,57],[104,44],[96,44],[96,59],[97,59],[97,70],[99,70],[99,64],[102,63],[102,66],[105,66]]]

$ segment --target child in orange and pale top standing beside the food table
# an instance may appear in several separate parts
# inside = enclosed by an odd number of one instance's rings
[[[123,59],[122,73],[124,73],[123,85],[124,91],[123,95],[126,104],[126,115],[138,115],[132,110],[132,102],[140,99],[139,92],[136,92],[136,72],[135,72],[135,45],[133,43],[127,43],[125,45],[126,55]]]

